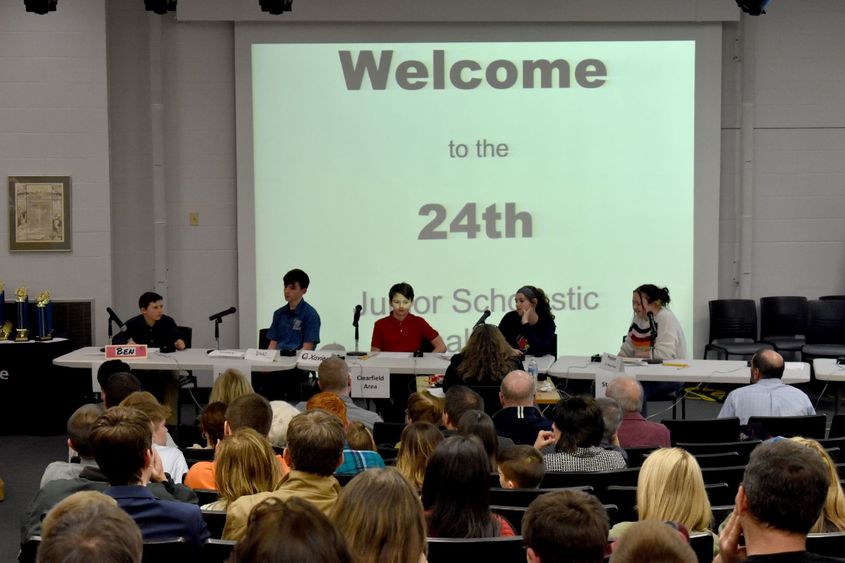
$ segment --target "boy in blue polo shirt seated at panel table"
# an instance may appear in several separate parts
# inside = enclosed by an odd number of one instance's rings
[[[294,269],[282,278],[287,305],[273,313],[267,332],[271,350],[314,350],[320,342],[320,315],[303,296],[311,280],[308,274]]]

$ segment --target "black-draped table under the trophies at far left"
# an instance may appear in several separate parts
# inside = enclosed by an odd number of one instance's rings
[[[86,400],[86,378],[53,365],[73,349],[64,338],[0,341],[0,433],[64,434],[68,417]]]

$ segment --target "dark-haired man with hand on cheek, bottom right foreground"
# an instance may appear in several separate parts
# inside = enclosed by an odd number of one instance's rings
[[[806,552],[829,486],[824,463],[807,446],[773,440],[754,448],[714,563],[840,561]]]

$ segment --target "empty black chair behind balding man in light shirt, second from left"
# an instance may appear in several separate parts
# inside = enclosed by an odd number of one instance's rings
[[[782,295],[760,298],[760,341],[800,359],[806,343],[807,298]]]

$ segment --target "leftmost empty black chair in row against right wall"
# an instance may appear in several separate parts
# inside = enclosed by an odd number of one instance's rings
[[[757,340],[757,304],[753,299],[710,301],[710,336],[704,359],[712,350],[717,358],[750,357],[760,348],[772,348]]]

